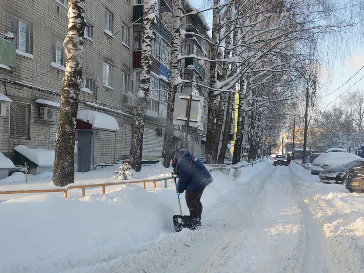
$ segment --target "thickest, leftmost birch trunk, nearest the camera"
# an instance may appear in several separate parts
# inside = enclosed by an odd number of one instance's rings
[[[68,1],[68,30],[63,42],[66,70],[62,81],[52,178],[53,183],[59,187],[75,182],[76,119],[82,77],[83,36],[86,26],[84,6],[84,0]]]

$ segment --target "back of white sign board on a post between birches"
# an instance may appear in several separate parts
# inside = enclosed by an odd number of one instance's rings
[[[181,124],[182,126],[186,126],[188,100],[189,100],[189,95],[176,93],[176,97],[174,100],[174,112],[173,112],[173,116],[175,118],[173,119],[174,124],[176,125]],[[201,123],[202,110],[203,110],[203,97],[192,96],[190,122],[189,122],[190,127],[199,127]]]

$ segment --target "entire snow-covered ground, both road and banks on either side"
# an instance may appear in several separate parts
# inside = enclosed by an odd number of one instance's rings
[[[76,184],[115,181],[118,166],[76,173]],[[146,166],[134,179],[167,176]],[[0,272],[364,272],[364,195],[321,183],[300,165],[266,160],[213,171],[202,226],[174,231],[172,180],[0,195]],[[52,188],[51,173],[0,180],[0,190]],[[188,214],[181,194],[182,212]]]

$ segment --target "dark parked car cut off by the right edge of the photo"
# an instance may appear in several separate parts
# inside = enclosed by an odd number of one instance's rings
[[[364,193],[364,159],[348,169],[345,188],[351,193]]]

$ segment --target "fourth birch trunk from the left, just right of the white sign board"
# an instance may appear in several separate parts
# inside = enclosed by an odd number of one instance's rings
[[[220,23],[219,23],[219,0],[214,0],[213,19],[212,19],[212,35],[211,35],[211,59],[210,62],[210,91],[209,91],[209,109],[207,111],[207,128],[206,128],[206,144],[205,144],[205,163],[211,164],[213,145],[214,145],[214,134],[216,128],[216,95],[215,90],[217,86],[217,65],[216,57],[218,53],[218,41],[220,34]]]

